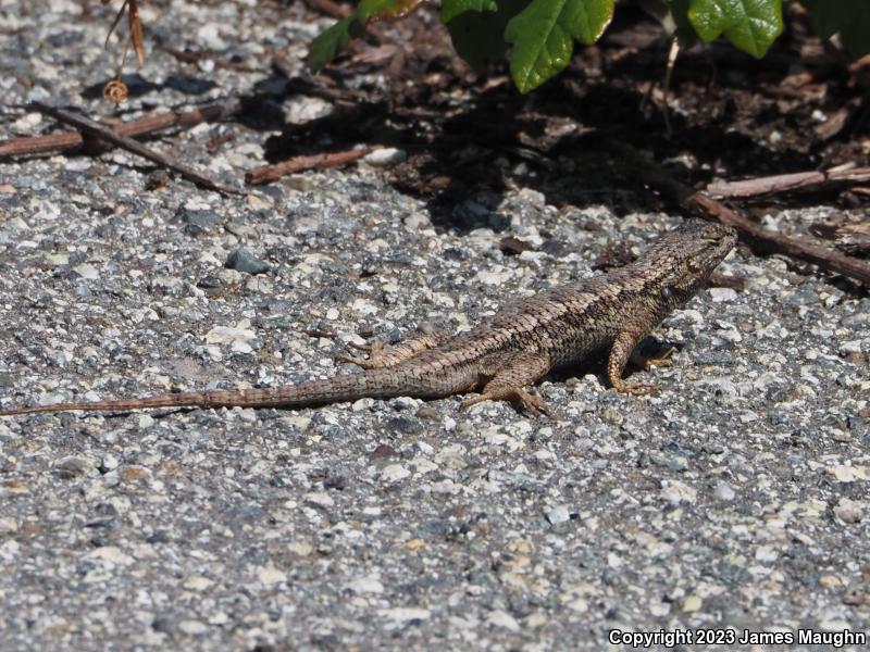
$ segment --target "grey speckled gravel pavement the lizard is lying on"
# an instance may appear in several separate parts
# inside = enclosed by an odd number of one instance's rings
[[[109,10],[91,4],[107,13],[0,0],[10,102],[107,112],[82,97],[114,65]],[[293,8],[196,4],[146,5],[151,38],[256,65],[263,43],[298,58],[318,28]],[[264,77],[177,68],[149,52],[128,117]],[[234,138],[207,153],[222,134]],[[265,136],[203,125],[156,147],[237,183]],[[146,190],[152,167],[123,152],[3,163],[0,404],[327,377],[348,341],[463,328],[593,274],[611,241],[637,252],[679,222],[520,187],[455,206],[486,227],[436,228],[383,164],[224,199],[185,181]],[[828,212],[769,226],[803,233]],[[508,236],[535,249],[507,255]],[[258,273],[225,267],[233,252]],[[555,419],[462,411],[459,398],[0,419],[0,649],[569,650],[605,649],[613,629],[866,632],[870,300],[743,248],[721,269],[746,287],[706,290],[658,329],[680,349],[671,367],[637,373],[658,396],[614,393],[593,361],[538,388]]]

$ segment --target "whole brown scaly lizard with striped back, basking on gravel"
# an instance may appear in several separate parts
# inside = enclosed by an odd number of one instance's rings
[[[634,263],[522,299],[469,331],[422,335],[387,348],[372,347],[368,359],[339,358],[362,366],[362,374],[271,389],[28,405],[0,411],[0,415],[186,406],[302,408],[366,397],[436,399],[474,390],[481,393],[463,405],[504,400],[520,403],[532,414],[549,413],[529,387],[551,369],[571,366],[602,349],[609,350],[607,378],[614,389],[649,393],[650,386],[622,379],[632,351],[697,292],[736,239],[730,227],[691,221],[662,236]]]

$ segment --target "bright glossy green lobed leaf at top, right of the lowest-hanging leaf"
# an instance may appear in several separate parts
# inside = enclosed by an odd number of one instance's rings
[[[760,59],[782,34],[782,0],[692,0],[688,20],[701,40],[724,34],[735,47]]]

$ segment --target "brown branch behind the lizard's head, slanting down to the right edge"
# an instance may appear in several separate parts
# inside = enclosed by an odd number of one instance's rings
[[[639,181],[658,189],[685,209],[700,212],[722,224],[733,226],[763,251],[812,263],[828,272],[848,276],[870,286],[870,264],[861,260],[762,228],[707,193],[695,191],[649,165],[633,166],[632,172]]]

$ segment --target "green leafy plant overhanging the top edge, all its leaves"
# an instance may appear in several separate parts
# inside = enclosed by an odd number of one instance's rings
[[[398,17],[422,0],[362,0],[357,10],[318,36],[308,59],[318,72],[374,20]],[[856,57],[870,51],[868,0],[801,0],[822,38],[840,34]],[[756,58],[782,33],[782,0],[644,0],[678,38],[692,43],[724,36]],[[476,71],[510,50],[517,88],[527,92],[562,71],[574,41],[598,40],[613,17],[614,0],[443,0],[440,21],[453,47]]]

